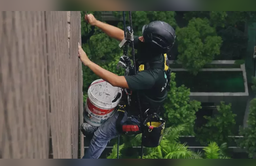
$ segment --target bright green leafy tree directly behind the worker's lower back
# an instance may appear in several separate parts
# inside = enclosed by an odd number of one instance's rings
[[[177,87],[175,82],[175,73],[171,73],[170,91],[165,101],[164,118],[167,126],[178,126],[186,124],[186,133],[193,134],[195,123],[195,113],[201,108],[201,102],[190,101],[190,89],[184,85]]]

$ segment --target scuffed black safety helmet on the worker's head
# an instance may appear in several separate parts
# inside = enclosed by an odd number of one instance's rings
[[[155,43],[167,53],[175,43],[175,30],[171,25],[163,21],[153,21],[142,28],[142,35],[145,42]]]

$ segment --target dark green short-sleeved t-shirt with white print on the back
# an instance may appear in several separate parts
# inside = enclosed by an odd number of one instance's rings
[[[138,49],[138,36],[134,36],[134,48]],[[157,61],[164,63],[164,56],[156,56]],[[136,67],[138,70],[138,67]],[[138,108],[137,95],[139,93],[142,111],[161,106],[167,97],[168,78],[167,73],[161,69],[145,69],[136,75],[125,76],[129,88],[132,90],[132,108]],[[130,110],[132,111],[132,110]],[[135,111],[135,110],[134,110]],[[138,112],[136,109],[135,113]]]

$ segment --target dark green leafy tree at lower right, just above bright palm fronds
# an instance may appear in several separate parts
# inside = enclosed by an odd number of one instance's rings
[[[207,145],[211,141],[222,144],[232,140],[229,136],[233,136],[236,114],[232,113],[230,103],[226,105],[221,102],[217,110],[218,113],[213,117],[204,116],[208,122],[197,129],[196,138],[202,145]]]

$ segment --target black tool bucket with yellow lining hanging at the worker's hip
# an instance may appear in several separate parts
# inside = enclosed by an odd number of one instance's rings
[[[149,115],[142,125],[142,145],[147,148],[158,147],[164,134],[165,120]]]

